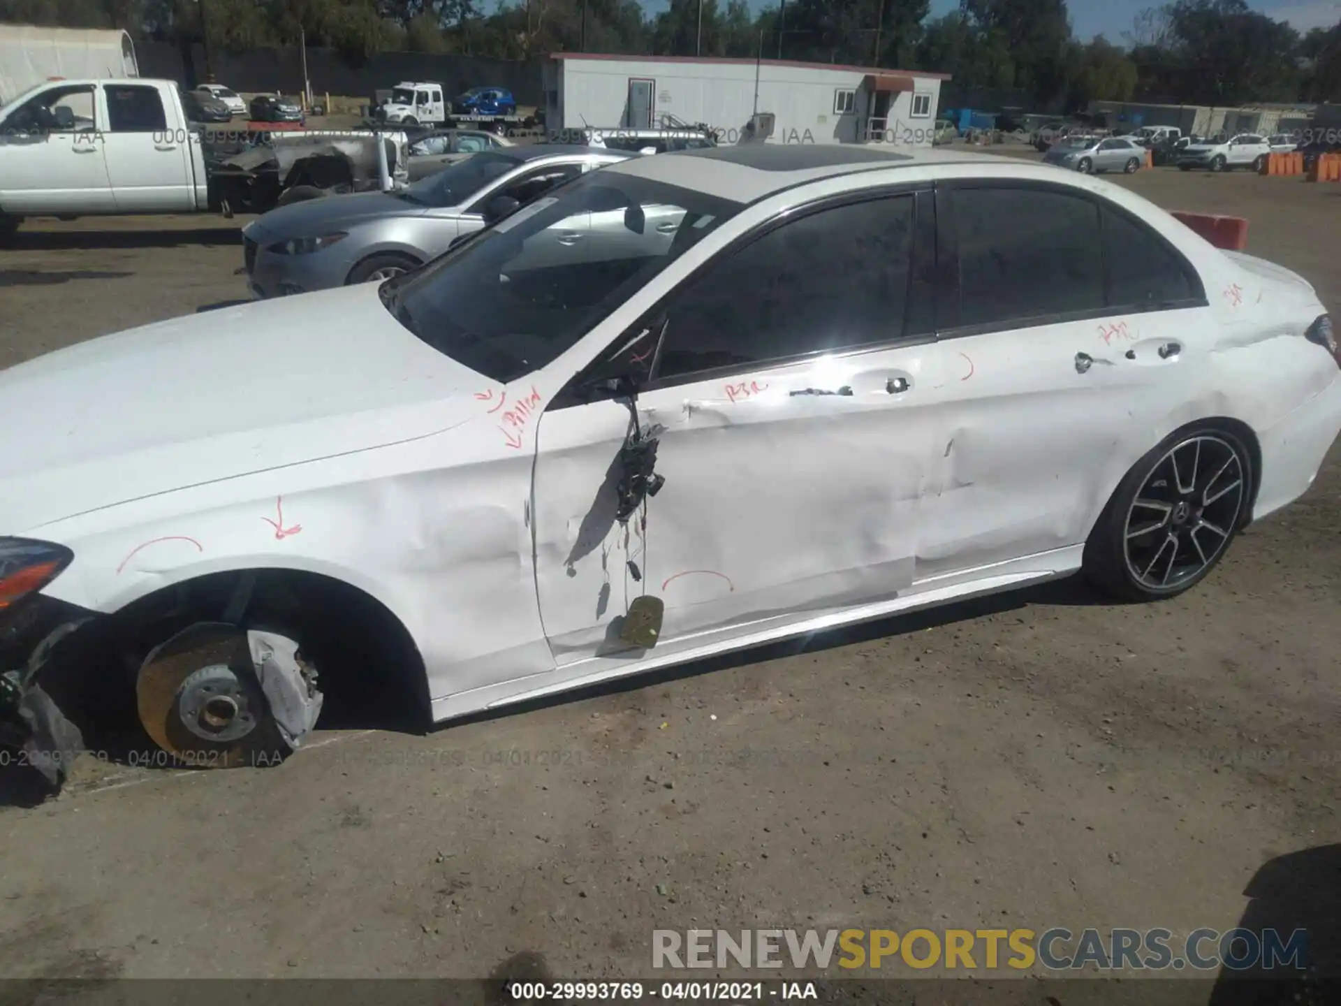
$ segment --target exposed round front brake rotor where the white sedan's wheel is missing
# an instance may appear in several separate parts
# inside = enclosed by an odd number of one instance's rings
[[[198,622],[154,648],[135,679],[139,722],[185,765],[270,765],[284,747],[235,625]]]

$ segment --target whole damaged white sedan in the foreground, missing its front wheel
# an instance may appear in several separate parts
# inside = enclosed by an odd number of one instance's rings
[[[1309,488],[1341,353],[1307,282],[1104,181],[756,145],[52,353],[0,417],[0,704],[59,781],[94,688],[256,765],[342,660],[445,720],[1078,570],[1177,594]]]

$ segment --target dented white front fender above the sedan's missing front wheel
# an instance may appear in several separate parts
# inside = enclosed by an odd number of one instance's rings
[[[417,441],[55,522],[36,534],[75,561],[44,593],[111,613],[211,573],[306,570],[400,618],[433,699],[543,673],[552,659],[526,526],[531,448],[510,447],[481,416]]]

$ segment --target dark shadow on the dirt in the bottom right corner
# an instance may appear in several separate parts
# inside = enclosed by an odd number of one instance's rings
[[[1243,958],[1258,958],[1254,942],[1285,947],[1286,960],[1244,970],[1222,968],[1207,1006],[1285,1006],[1341,1002],[1341,844],[1318,845],[1267,860],[1244,888],[1247,908],[1238,928]],[[1266,935],[1263,935],[1266,934]],[[1289,960],[1291,936],[1301,947],[1298,964]],[[1204,951],[1203,951],[1204,952]],[[1220,956],[1223,958],[1223,950]]]

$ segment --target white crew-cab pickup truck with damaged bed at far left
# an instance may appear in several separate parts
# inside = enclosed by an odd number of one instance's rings
[[[240,153],[219,156],[220,138]],[[370,133],[279,133],[264,149],[257,138],[207,144],[172,80],[48,80],[0,107],[0,239],[25,216],[264,212],[287,189],[388,188],[404,174],[402,135],[385,137],[386,173]]]

